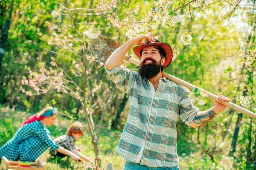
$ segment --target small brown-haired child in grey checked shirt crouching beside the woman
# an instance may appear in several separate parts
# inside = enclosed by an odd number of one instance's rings
[[[75,141],[80,139],[81,136],[84,134],[84,128],[80,122],[74,122],[73,124],[68,127],[66,131],[66,135],[59,136],[58,138],[54,139],[54,141],[59,145],[64,147],[67,150],[70,150],[72,153],[79,156],[81,159],[84,159],[84,161],[92,162],[87,156],[84,156],[81,154],[75,147]],[[58,150],[56,150],[54,147],[51,147],[49,150],[50,155],[52,156],[58,156],[61,158],[64,158],[66,155],[59,153]]]

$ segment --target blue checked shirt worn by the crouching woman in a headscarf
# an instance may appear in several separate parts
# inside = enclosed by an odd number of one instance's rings
[[[5,156],[12,161],[35,161],[48,147],[57,150],[59,146],[41,121],[35,121],[20,127],[15,136],[0,148],[0,159]]]

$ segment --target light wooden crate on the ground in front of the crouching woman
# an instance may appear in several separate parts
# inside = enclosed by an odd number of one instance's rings
[[[46,170],[46,164],[41,159],[37,159],[37,162],[31,162],[30,167],[19,167],[18,161],[9,161],[3,156],[1,170]]]

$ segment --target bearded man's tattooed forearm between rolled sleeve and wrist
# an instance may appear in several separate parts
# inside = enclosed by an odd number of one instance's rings
[[[208,111],[202,111],[202,112],[198,112],[197,115],[195,116],[193,122],[195,124],[206,124],[207,122],[209,122],[210,120],[212,120],[214,118],[214,116],[217,113],[215,113],[215,111],[208,110]]]

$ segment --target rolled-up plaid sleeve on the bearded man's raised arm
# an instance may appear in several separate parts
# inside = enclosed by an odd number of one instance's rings
[[[116,87],[125,93],[128,92],[134,86],[134,82],[136,81],[136,74],[134,71],[131,71],[125,68],[123,65],[119,65],[116,68],[107,71],[109,78],[116,84]]]

